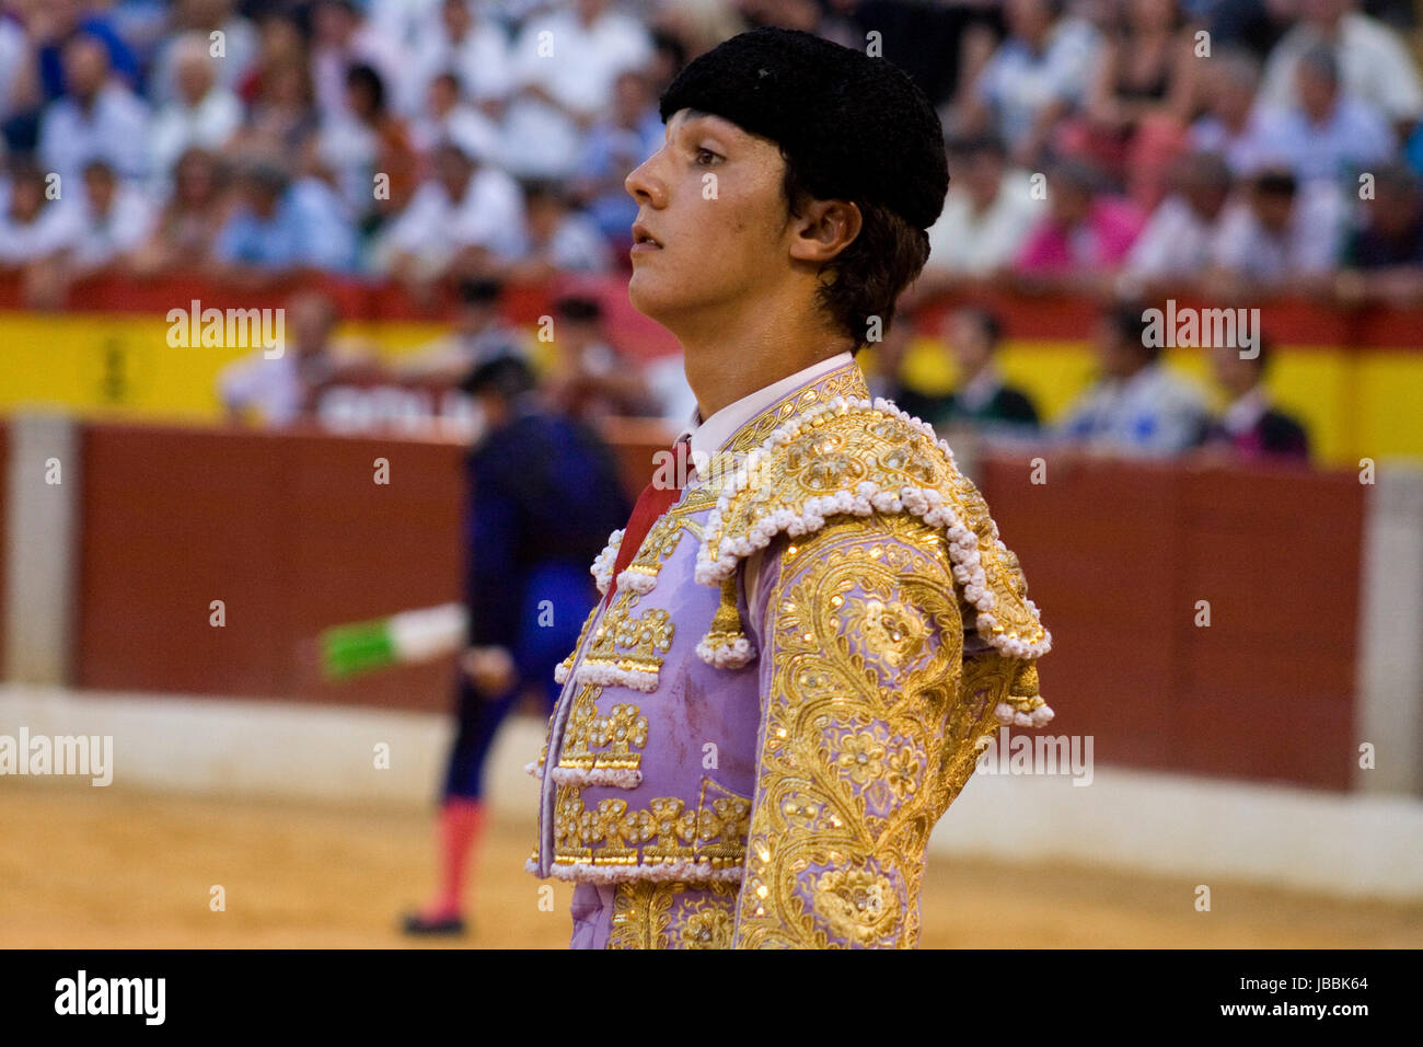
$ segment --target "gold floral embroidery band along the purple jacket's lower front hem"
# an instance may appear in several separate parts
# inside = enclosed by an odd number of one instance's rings
[[[709,802],[709,796],[714,796]],[[582,788],[559,785],[554,803],[554,860],[561,865],[659,865],[697,862],[734,869],[746,858],[751,802],[710,778],[702,779],[697,808],[657,796],[643,809],[625,799],[583,803]],[[656,840],[656,842],[653,842]]]

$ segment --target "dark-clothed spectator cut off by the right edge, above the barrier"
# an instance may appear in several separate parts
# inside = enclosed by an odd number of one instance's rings
[[[1373,199],[1359,205],[1360,222],[1335,276],[1340,302],[1423,302],[1423,177],[1393,161],[1379,168]]]

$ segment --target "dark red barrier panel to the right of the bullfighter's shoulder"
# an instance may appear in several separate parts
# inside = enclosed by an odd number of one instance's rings
[[[1343,789],[1356,758],[1363,486],[1353,473],[983,467],[1053,634],[1052,731],[1104,764]],[[1197,601],[1210,625],[1197,625]]]

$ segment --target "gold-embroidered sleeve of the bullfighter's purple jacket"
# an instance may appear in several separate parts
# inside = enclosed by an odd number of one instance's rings
[[[966,672],[948,550],[904,514],[797,538],[768,608],[737,946],[914,946],[929,830],[1012,662]]]

